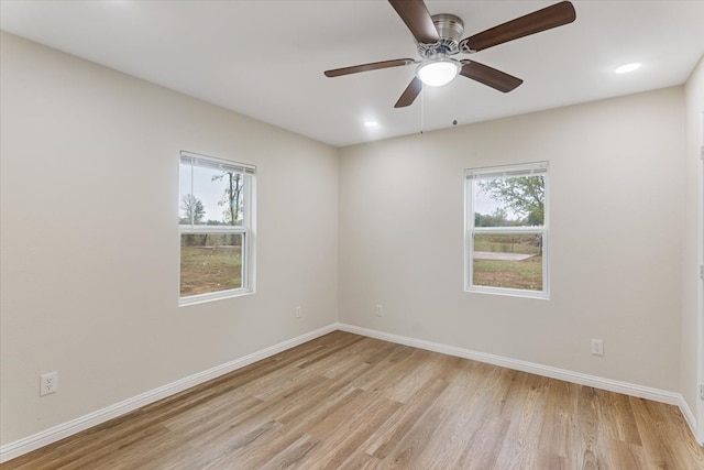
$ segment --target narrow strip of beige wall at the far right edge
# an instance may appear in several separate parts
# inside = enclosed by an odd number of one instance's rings
[[[704,145],[704,58],[692,73],[684,87],[686,102],[686,147],[685,147],[685,228],[683,231],[682,263],[682,354],[681,354],[681,393],[690,409],[696,413],[697,354],[700,365],[704,362],[704,352],[697,351],[697,331],[704,336],[704,325],[697,321],[697,309],[702,306],[702,282],[698,278],[698,266],[702,264],[702,160],[701,146]],[[704,340],[704,338],[702,338]],[[700,378],[704,380],[704,378]],[[704,442],[704,411],[700,411],[700,441]]]

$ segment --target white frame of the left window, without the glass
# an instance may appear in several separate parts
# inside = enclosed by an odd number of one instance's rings
[[[188,151],[180,152],[180,164],[190,164],[191,172],[195,166],[205,166],[209,168],[222,170],[226,172],[237,172],[243,175],[243,201],[242,201],[242,225],[239,226],[206,226],[206,225],[178,225],[178,285],[180,286],[180,239],[184,234],[206,234],[206,233],[240,233],[242,236],[242,287],[226,291],[210,292],[195,295],[178,295],[178,305],[194,305],[204,302],[211,302],[221,298],[238,297],[241,295],[253,294],[255,292],[255,195],[256,195],[256,166],[245,163],[230,162],[226,160],[215,159],[212,156],[201,155]],[[180,170],[179,170],[180,172]],[[193,178],[191,178],[193,184]],[[179,190],[180,193],[180,190]],[[190,194],[194,194],[193,188]],[[195,195],[195,194],[194,194]],[[180,204],[180,197],[179,197]]]

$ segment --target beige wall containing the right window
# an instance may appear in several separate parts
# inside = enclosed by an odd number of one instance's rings
[[[340,320],[679,391],[683,117],[678,87],[342,149]],[[463,292],[463,170],[543,160],[551,298]]]

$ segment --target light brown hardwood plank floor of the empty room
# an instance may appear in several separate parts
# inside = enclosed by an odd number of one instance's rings
[[[679,409],[336,331],[2,469],[704,469]]]

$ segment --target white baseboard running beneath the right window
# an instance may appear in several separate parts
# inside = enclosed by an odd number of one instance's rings
[[[479,362],[486,362],[494,365],[501,365],[507,369],[514,369],[522,372],[530,372],[537,375],[559,379],[580,385],[593,386],[595,389],[607,390],[609,392],[623,393],[639,398],[648,398],[654,402],[667,403],[680,407],[682,415],[686,419],[692,434],[696,436],[696,418],[692,409],[684,401],[680,393],[669,392],[666,390],[652,389],[649,386],[637,385],[628,382],[622,382],[612,379],[604,379],[596,375],[583,374],[580,372],[558,369],[550,365],[537,364],[534,362],[521,361],[518,359],[505,358],[502,356],[490,354],[486,352],[473,351],[471,349],[458,348],[454,346],[441,345],[438,342],[415,339],[399,335],[393,335],[370,328],[358,327],[348,324],[338,324],[338,329],[342,331],[353,332],[370,338],[381,339],[384,341],[395,342],[398,345],[411,346],[414,348],[426,349],[428,351],[441,352],[443,354],[455,356],[458,358],[472,359]]]

